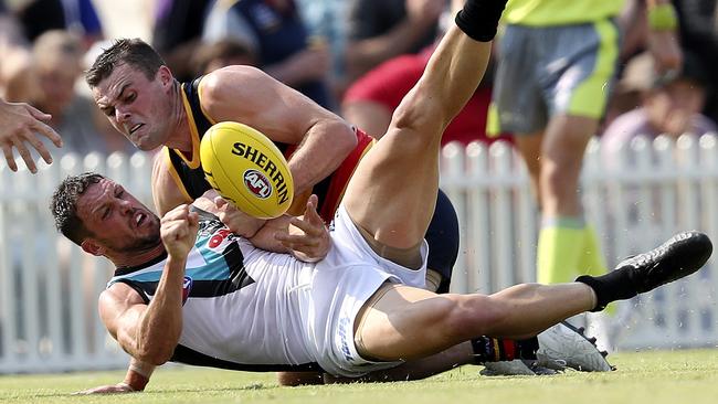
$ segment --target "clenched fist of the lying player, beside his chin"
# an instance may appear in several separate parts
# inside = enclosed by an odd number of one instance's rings
[[[181,204],[167,212],[160,221],[160,236],[170,257],[187,258],[199,231],[199,215]]]

